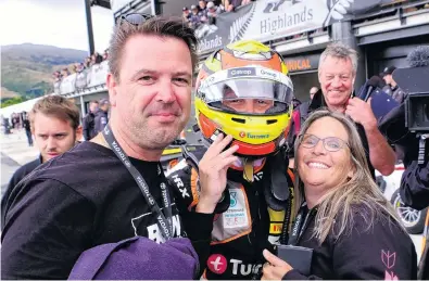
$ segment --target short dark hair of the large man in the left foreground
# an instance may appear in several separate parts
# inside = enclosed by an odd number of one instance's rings
[[[173,20],[172,17],[155,16],[139,25],[119,18],[114,28],[109,47],[109,67],[117,80],[119,80],[119,65],[124,53],[124,47],[128,38],[135,35],[173,37],[182,40],[188,46],[191,53],[192,69],[195,68],[198,63],[198,40],[193,29],[186,26],[181,18]]]

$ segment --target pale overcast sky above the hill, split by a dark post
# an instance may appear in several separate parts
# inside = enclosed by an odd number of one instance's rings
[[[92,7],[96,51],[109,47],[113,14]],[[89,50],[85,0],[0,0],[0,44],[37,43]]]

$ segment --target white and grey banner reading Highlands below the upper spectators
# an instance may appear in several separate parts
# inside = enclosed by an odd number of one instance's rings
[[[379,9],[388,0],[266,0],[219,14],[216,25],[202,25],[195,34],[204,53],[241,39],[274,40],[315,30],[336,21]]]

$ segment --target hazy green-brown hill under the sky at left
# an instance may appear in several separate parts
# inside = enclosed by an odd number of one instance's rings
[[[43,44],[1,47],[1,101],[36,98],[52,91],[52,73],[61,66],[84,62],[86,51]]]

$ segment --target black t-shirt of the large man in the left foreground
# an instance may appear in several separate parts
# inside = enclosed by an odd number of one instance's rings
[[[160,163],[130,161],[163,207]],[[172,192],[171,199],[173,233],[184,237]],[[129,171],[111,150],[92,142],[39,166],[15,187],[9,202],[2,279],[67,279],[85,250],[135,235],[163,240]]]

